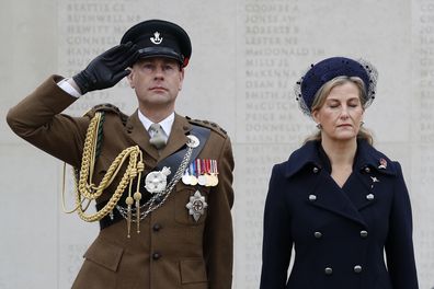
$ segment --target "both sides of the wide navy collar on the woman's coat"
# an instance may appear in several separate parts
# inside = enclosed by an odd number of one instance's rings
[[[323,164],[319,155],[319,141],[312,140],[294,151],[286,163],[285,176],[292,177],[309,165],[321,169]],[[389,158],[377,151],[366,140],[358,139],[354,170],[361,171],[366,167],[376,170],[382,174],[396,175],[395,164]]]

